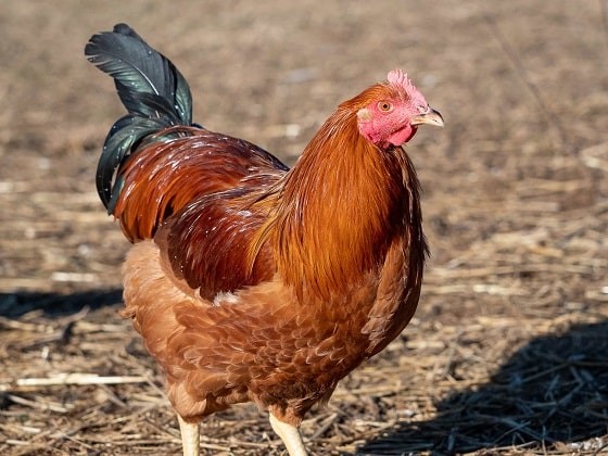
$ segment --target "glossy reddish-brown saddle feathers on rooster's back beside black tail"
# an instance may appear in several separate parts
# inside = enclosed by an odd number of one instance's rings
[[[240,188],[261,192],[288,167],[263,149],[194,127],[173,127],[159,135],[185,137],[142,144],[118,172],[121,192],[114,215],[131,241],[152,239],[159,227],[188,204]]]

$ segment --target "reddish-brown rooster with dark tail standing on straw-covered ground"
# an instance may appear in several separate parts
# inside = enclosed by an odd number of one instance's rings
[[[428,249],[402,144],[442,116],[392,71],[340,104],[290,169],[193,124],[183,76],[128,25],[85,53],[128,111],[97,188],[134,243],[123,315],[166,375],[183,454],[199,454],[203,418],[251,401],[305,455],[305,413],[416,309]]]

